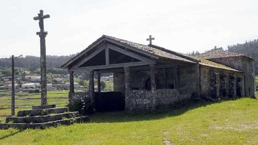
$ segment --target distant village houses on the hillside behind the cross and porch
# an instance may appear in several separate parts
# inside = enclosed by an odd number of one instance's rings
[[[11,89],[12,82],[11,76],[3,76],[0,80],[0,90],[3,89]],[[40,76],[35,76],[34,74],[30,74],[29,71],[26,71],[26,76],[19,76],[15,75],[14,79],[14,87],[16,90],[26,91],[26,90],[40,90]],[[113,76],[102,76],[101,81],[104,82],[113,82]],[[62,75],[62,74],[54,74],[52,75],[51,79],[47,80],[47,89],[50,91],[55,90],[68,90],[70,83],[69,83],[69,74]],[[87,86],[80,85],[78,82],[74,81],[74,89],[79,90],[87,90]],[[36,92],[35,92],[36,93]]]

